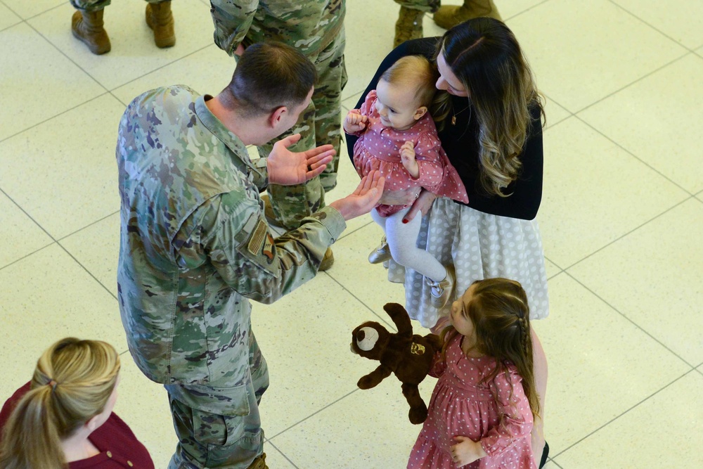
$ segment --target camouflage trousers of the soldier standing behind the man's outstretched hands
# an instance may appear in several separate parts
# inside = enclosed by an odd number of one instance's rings
[[[344,67],[344,30],[337,34],[332,43],[323,51],[309,59],[318,71],[318,83],[313,92],[312,102],[301,114],[297,124],[279,137],[301,134],[301,139],[290,149],[304,151],[330,143],[337,154],[321,176],[295,186],[269,184],[269,200],[276,218],[287,229],[295,229],[300,220],[325,206],[325,191],[337,184],[340,146],[342,141],[341,124],[342,88],[347,84],[347,71]],[[259,155],[271,153],[273,145],[267,143],[259,147]]]

